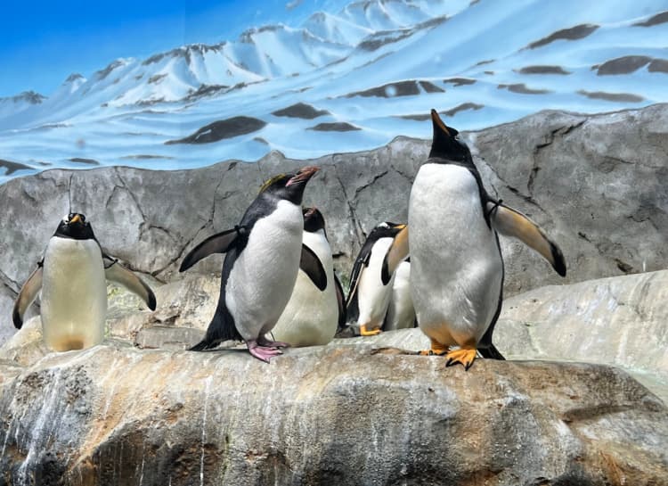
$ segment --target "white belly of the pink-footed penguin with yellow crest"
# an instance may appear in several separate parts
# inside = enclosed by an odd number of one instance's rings
[[[297,279],[304,220],[296,204],[278,203],[257,220],[225,285],[225,302],[246,341],[272,330]]]

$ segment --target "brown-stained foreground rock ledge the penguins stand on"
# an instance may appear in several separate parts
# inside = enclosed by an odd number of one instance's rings
[[[107,343],[0,364],[0,483],[665,484],[668,410],[596,365]]]

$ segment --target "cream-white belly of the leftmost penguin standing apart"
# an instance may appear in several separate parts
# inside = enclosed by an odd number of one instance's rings
[[[46,247],[41,317],[46,345],[79,350],[104,339],[107,282],[94,240],[53,236]]]

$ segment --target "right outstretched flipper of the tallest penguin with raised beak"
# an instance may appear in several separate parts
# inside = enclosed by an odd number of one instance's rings
[[[560,276],[566,276],[566,260],[556,243],[531,219],[501,202],[487,202],[492,226],[501,235],[517,238],[548,260]]]

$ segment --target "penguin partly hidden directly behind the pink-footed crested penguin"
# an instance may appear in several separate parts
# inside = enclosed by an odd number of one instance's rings
[[[330,243],[325,231],[325,220],[316,208],[305,208],[303,243],[315,253],[327,276],[323,290],[299,269],[297,282],[288,305],[273,328],[274,339],[290,346],[317,346],[334,338],[340,325],[346,323],[343,293],[331,257]]]

